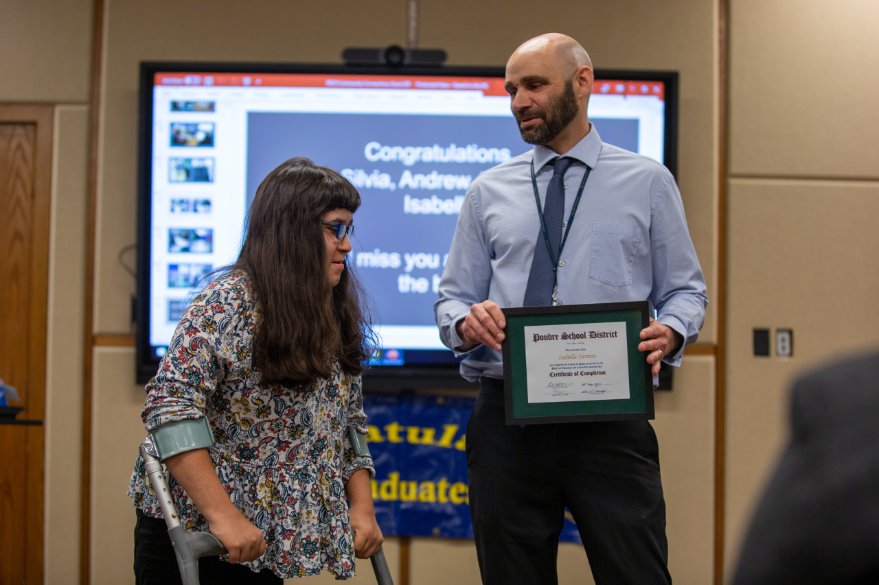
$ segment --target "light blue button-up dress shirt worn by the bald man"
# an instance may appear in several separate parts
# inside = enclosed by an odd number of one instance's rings
[[[450,348],[462,344],[455,323],[471,305],[490,299],[499,307],[522,306],[534,245],[545,245],[532,156],[543,206],[552,177],[547,162],[557,156],[543,146],[483,172],[464,199],[433,305],[439,336]],[[575,162],[564,177],[564,220],[586,165],[592,172],[560,257],[559,299],[565,305],[649,300],[658,321],[683,336],[685,345],[694,343],[708,297],[672,173],[646,156],[602,142],[594,126],[565,156]],[[683,346],[665,362],[679,365],[682,355]],[[503,378],[501,352],[476,347],[461,362],[461,375],[470,381]]]

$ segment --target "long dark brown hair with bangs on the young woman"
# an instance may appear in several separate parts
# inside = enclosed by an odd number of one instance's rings
[[[272,170],[251,204],[233,270],[251,281],[258,320],[253,359],[267,384],[328,378],[331,358],[359,374],[373,343],[350,264],[327,278],[324,213],[360,207],[360,193],[335,170],[298,156]]]

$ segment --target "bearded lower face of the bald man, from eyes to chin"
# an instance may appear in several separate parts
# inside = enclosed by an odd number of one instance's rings
[[[516,90],[518,95],[519,90]],[[570,79],[562,90],[531,92],[527,104],[517,107],[516,95],[511,94],[511,108],[522,140],[528,144],[546,145],[556,140],[556,136],[577,117],[580,105],[574,95]]]

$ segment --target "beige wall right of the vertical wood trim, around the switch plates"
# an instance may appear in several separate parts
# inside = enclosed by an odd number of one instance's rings
[[[879,343],[879,4],[730,7],[728,566],[786,437],[791,379]],[[793,357],[753,357],[754,328],[793,329]]]

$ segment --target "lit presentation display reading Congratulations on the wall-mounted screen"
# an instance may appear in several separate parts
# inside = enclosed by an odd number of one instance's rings
[[[350,264],[388,349],[442,349],[432,305],[469,184],[527,151],[501,78],[158,74],[150,344],[162,355],[207,272],[233,262],[258,184],[308,156],[360,191]],[[663,157],[661,87],[597,82],[604,141]],[[609,85],[613,84],[613,85]]]

